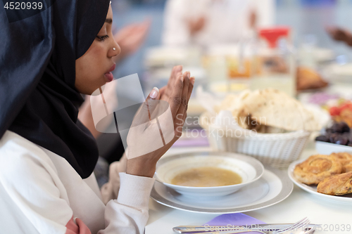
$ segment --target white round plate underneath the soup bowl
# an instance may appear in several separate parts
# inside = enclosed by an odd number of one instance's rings
[[[270,207],[287,198],[294,186],[284,171],[264,166],[264,174],[258,181],[230,195],[187,197],[156,181],[151,198],[167,207],[196,213],[238,213]]]

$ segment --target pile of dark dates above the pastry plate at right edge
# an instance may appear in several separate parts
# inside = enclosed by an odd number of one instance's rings
[[[317,136],[315,141],[352,146],[352,131],[350,132],[350,128],[345,122],[335,122],[326,129],[324,135]]]

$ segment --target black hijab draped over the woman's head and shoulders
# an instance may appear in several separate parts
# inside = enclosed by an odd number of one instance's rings
[[[16,10],[15,20],[0,7],[0,138],[13,131],[64,157],[82,178],[99,155],[77,119],[84,100],[75,89],[75,60],[96,38],[109,2],[46,0],[44,11],[28,17]]]

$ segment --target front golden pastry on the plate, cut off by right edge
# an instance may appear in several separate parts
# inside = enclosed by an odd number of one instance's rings
[[[325,178],[317,187],[318,193],[344,195],[352,193],[352,171]]]

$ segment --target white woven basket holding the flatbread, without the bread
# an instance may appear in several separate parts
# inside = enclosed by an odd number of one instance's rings
[[[234,134],[233,130],[229,133],[228,129],[209,124],[208,119],[208,113],[204,112],[200,124],[207,131],[211,148],[251,155],[272,167],[288,167],[297,160],[310,136],[309,131],[259,134],[246,129],[239,130],[240,134]]]

